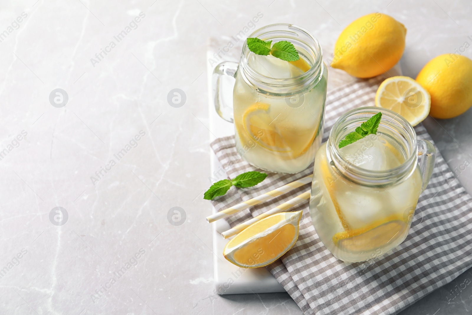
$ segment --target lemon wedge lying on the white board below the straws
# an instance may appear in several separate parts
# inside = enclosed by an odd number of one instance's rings
[[[294,246],[301,217],[302,211],[281,212],[257,221],[226,244],[223,256],[242,268],[267,266]]]

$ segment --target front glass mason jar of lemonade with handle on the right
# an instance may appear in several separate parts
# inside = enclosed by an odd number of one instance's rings
[[[377,135],[338,147],[379,111]],[[413,127],[393,111],[361,107],[339,118],[316,153],[310,198],[313,225],[329,251],[353,263],[400,245],[430,180],[435,154],[434,146],[417,140]]]

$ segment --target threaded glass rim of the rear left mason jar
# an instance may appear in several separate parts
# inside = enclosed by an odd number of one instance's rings
[[[283,36],[284,34],[285,36]],[[291,36],[289,36],[289,34]],[[303,36],[304,39],[301,39]],[[312,67],[297,77],[278,79],[273,77],[267,77],[257,71],[255,71],[248,63],[248,56],[252,53],[247,47],[247,41],[244,41],[243,50],[241,53],[240,65],[243,69],[245,77],[248,77],[251,81],[256,81],[268,87],[290,87],[294,85],[305,85],[312,82],[314,77],[322,76],[322,60],[323,52],[321,45],[318,40],[306,29],[288,23],[277,23],[262,26],[255,30],[248,37],[257,37],[263,41],[267,41],[273,38],[286,38],[291,42],[304,43],[307,48],[310,49],[309,53],[313,58]],[[311,43],[309,43],[309,42]]]

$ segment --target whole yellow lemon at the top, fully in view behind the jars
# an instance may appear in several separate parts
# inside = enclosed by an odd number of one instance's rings
[[[405,26],[386,14],[360,17],[339,35],[331,67],[361,78],[385,73],[402,57],[405,35]]]

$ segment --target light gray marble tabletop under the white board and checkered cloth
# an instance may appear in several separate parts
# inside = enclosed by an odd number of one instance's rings
[[[207,39],[261,12],[257,27],[307,28],[329,56],[375,11],[408,29],[408,76],[471,42],[465,0],[2,1],[0,314],[301,314],[286,293],[213,292]],[[471,119],[425,121],[453,169],[472,161]],[[471,273],[402,314],[470,314]]]

